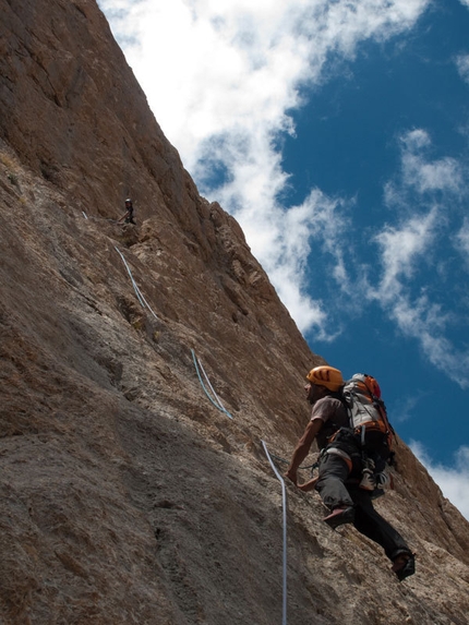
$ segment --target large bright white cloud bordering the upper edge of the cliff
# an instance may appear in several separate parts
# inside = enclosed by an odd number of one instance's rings
[[[314,327],[327,338],[324,307],[303,289],[308,237],[314,238],[314,230],[303,226],[311,211],[320,220],[316,208],[328,214],[336,201],[322,195],[317,204],[312,192],[303,206],[282,205],[279,197],[289,177],[276,139],[294,133],[288,111],[301,106],[301,85],[326,80],[330,56],[353,58],[360,41],[385,40],[411,28],[429,0],[99,4],[156,119],[202,193],[240,221],[300,329]],[[429,179],[435,175],[429,172]],[[330,235],[334,221],[323,224]],[[330,238],[337,241],[337,236]],[[329,252],[335,279],[344,286],[344,259],[332,247]]]

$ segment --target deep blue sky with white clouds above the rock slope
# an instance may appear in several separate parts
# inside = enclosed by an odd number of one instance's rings
[[[311,349],[469,518],[469,0],[99,5]]]

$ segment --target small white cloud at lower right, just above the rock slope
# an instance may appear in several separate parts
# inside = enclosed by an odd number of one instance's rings
[[[444,496],[469,520],[469,447],[459,447],[452,466],[435,464],[416,441],[410,443],[410,448],[442,489]]]

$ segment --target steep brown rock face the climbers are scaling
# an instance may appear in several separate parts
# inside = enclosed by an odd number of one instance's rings
[[[323,360],[199,195],[95,1],[0,7],[0,622],[280,623],[261,441],[290,457]],[[127,195],[136,227],[112,221]],[[376,507],[417,575],[399,585],[287,484],[290,625],[469,622],[469,526],[397,452]]]

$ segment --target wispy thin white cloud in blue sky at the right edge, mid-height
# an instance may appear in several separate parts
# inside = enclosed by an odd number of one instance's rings
[[[458,296],[453,292],[455,272],[464,280],[467,273],[459,273],[461,264],[456,263],[456,268],[446,269],[450,280],[445,281],[445,262],[438,257],[438,245],[445,241],[465,256],[468,266],[469,227],[466,217],[458,217],[458,207],[462,214],[467,202],[465,172],[454,158],[431,159],[432,141],[422,129],[405,133],[399,141],[400,175],[385,185],[385,202],[396,211],[397,219],[375,236],[381,274],[369,296],[380,301],[402,334],[420,344],[432,364],[467,388],[469,352],[464,344],[459,347],[447,338],[448,327],[467,316],[464,300],[456,301]],[[455,237],[452,232],[458,219]],[[441,295],[430,297],[429,288],[422,286],[420,274],[429,268],[433,275],[438,268],[442,272],[436,290],[444,292],[445,305]]]

